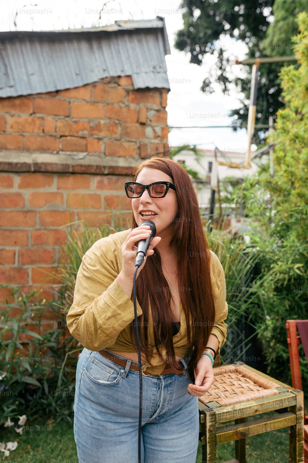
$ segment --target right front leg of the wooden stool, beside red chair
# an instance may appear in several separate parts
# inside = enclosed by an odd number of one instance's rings
[[[290,412],[296,414],[296,425],[290,426],[290,463],[304,461],[304,393],[299,389],[291,391],[296,394],[296,405]]]

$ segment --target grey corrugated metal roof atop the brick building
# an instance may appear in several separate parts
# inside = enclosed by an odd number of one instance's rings
[[[170,88],[164,18],[61,31],[0,32],[0,97],[75,88],[131,75],[134,88]]]

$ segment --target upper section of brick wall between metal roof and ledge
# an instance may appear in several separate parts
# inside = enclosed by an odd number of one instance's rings
[[[168,149],[166,89],[133,89],[130,76],[0,99],[0,150],[140,156]]]

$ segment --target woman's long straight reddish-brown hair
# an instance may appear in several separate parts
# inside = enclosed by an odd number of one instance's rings
[[[178,281],[181,304],[185,313],[187,325],[187,341],[190,346],[188,359],[188,374],[194,384],[194,369],[207,345],[208,338],[215,320],[215,306],[210,276],[210,251],[203,230],[197,195],[187,171],[169,158],[153,156],[143,161],[135,172],[136,181],[139,172],[147,168],[159,169],[172,178],[176,188],[178,214],[174,220],[174,233],[170,245],[175,244],[178,258]],[[132,213],[132,228],[138,224]],[[164,288],[162,291],[157,288]],[[167,289],[167,291],[165,291]],[[146,259],[145,266],[136,280],[136,296],[143,313],[138,317],[140,350],[151,364],[151,350],[148,344],[149,301],[153,319],[154,341],[162,363],[169,363],[175,373],[180,374],[182,368],[175,361],[173,347],[172,312],[170,307],[171,292],[163,275],[159,251],[154,248],[154,255]],[[166,306],[167,302],[167,306]],[[155,307],[155,309],[154,309]],[[192,323],[190,322],[191,316]],[[141,321],[142,318],[142,321]],[[133,322],[130,336],[137,350]],[[167,350],[166,361],[160,350],[163,344]]]

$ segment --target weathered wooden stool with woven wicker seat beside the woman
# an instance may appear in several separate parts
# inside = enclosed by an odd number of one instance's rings
[[[199,397],[202,462],[216,463],[216,446],[235,440],[236,458],[225,463],[245,463],[246,437],[290,426],[290,463],[303,463],[303,392],[244,362],[213,371],[215,382]],[[273,410],[277,413],[245,423],[245,417]],[[217,426],[230,420],[235,424]]]

